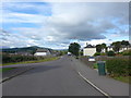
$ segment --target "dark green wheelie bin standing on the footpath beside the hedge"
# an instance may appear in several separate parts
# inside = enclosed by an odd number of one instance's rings
[[[99,75],[106,75],[105,63],[105,61],[97,62]]]

